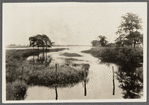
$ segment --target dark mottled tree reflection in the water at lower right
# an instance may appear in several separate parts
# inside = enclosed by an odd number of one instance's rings
[[[133,72],[132,72],[133,71]],[[120,88],[123,89],[124,98],[140,98],[143,89],[142,68],[136,69],[133,66],[120,66],[117,72]]]

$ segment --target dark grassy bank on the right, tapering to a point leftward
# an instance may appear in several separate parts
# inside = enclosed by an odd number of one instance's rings
[[[95,47],[82,52],[89,53],[94,57],[100,58],[102,62],[115,63],[118,65],[139,65],[143,62],[142,48]]]

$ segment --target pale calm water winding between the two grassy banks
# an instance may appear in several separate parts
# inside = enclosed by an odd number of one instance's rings
[[[27,90],[25,100],[72,100],[72,99],[122,99],[122,89],[118,86],[119,81],[115,74],[115,95],[113,95],[113,71],[117,71],[117,66],[114,64],[100,64],[100,60],[90,54],[81,53],[83,50],[88,50],[89,46],[68,47],[69,50],[59,52],[41,53],[39,56],[52,57],[51,64],[62,64],[64,58],[78,59],[75,63],[88,63],[90,65],[88,81],[79,82],[72,87],[44,87],[31,86]],[[66,57],[63,53],[77,53],[81,57]],[[37,58],[39,56],[34,56]],[[33,56],[28,57],[31,60]]]

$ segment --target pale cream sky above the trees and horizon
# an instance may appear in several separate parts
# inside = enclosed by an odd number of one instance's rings
[[[142,18],[147,35],[147,3],[3,3],[2,37],[5,45],[29,44],[29,37],[46,34],[60,45],[90,45],[99,35],[114,42],[121,16]]]

